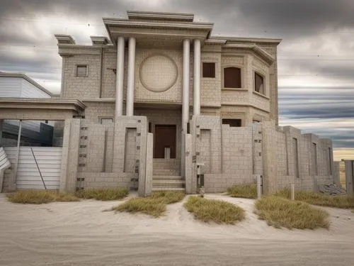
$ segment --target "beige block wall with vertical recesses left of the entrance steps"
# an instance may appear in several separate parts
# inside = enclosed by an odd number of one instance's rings
[[[127,187],[137,189],[139,195],[144,196],[147,118],[122,116],[111,125],[95,122],[88,119],[65,121],[60,189],[74,192]]]

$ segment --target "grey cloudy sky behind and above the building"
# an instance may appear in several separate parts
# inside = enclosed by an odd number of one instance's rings
[[[91,44],[103,17],[125,11],[194,13],[213,35],[282,38],[280,125],[333,140],[335,159],[354,159],[353,0],[0,0],[0,71],[23,72],[59,92],[54,34]]]

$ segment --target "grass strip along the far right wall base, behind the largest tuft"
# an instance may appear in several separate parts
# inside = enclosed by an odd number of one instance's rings
[[[280,190],[274,194],[274,196],[281,196],[285,199],[290,199],[290,190]],[[326,194],[319,194],[314,192],[295,192],[295,200],[304,201],[308,204],[335,207],[341,209],[354,208],[353,196],[330,196]]]

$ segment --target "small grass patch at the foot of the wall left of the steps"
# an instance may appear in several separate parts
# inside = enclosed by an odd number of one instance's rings
[[[98,201],[115,201],[124,199],[129,194],[129,189],[84,189],[75,193],[81,199],[96,199]]]

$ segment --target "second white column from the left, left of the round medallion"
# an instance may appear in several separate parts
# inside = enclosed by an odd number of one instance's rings
[[[135,43],[135,38],[130,37],[128,48],[127,116],[134,116]]]

